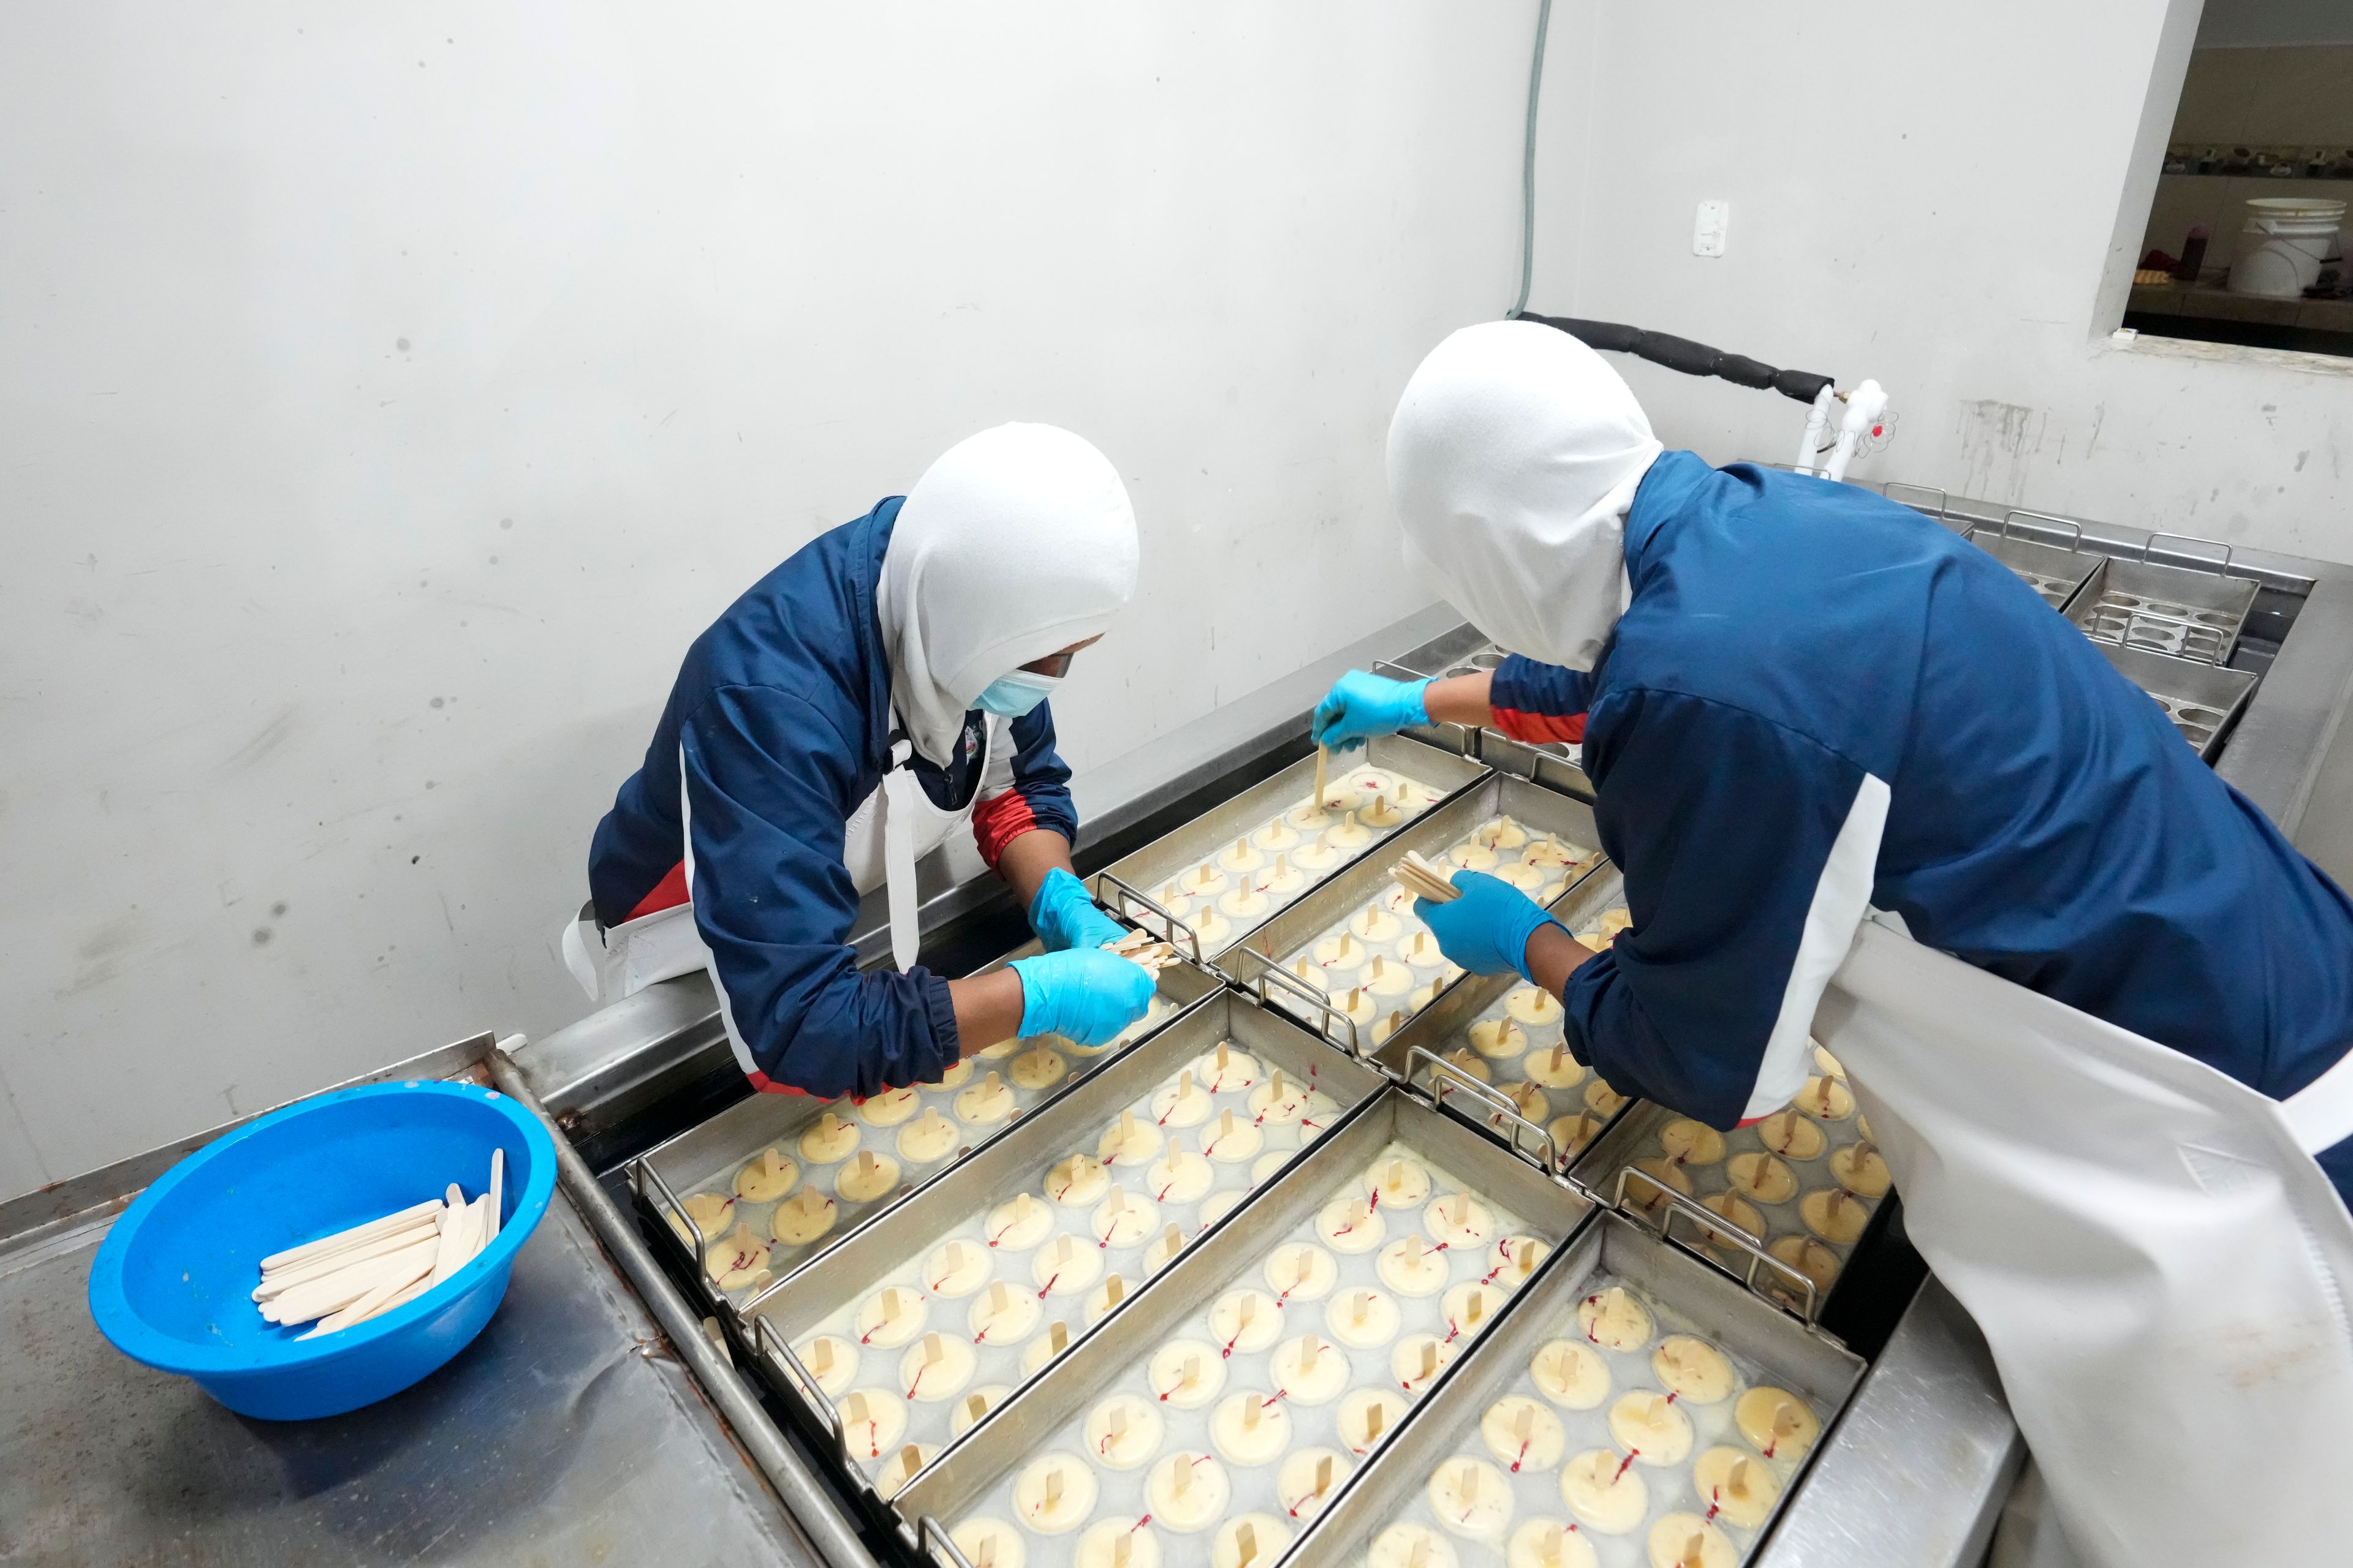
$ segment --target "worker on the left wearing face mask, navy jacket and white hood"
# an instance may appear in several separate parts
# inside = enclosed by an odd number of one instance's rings
[[[1078,813],[1047,693],[1136,583],[1111,463],[1000,425],[904,498],[819,534],[694,644],[588,849],[567,959],[609,999],[708,969],[758,1088],[871,1095],[1014,1034],[1089,1046],[1151,976],[1071,870]],[[920,853],[960,823],[1047,952],[946,980],[911,966]],[[889,889],[899,969],[861,973],[859,896]]]

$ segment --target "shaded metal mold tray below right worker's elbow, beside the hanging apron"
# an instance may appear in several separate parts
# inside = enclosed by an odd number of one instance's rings
[[[1854,1091],[1847,1088],[1838,1058],[1821,1046],[1812,1051],[1814,1077],[1798,1098],[1772,1117],[1729,1133],[1638,1100],[1635,1110],[1579,1161],[1574,1180],[1586,1192],[1609,1199],[1619,1173],[1633,1166],[1755,1237],[1781,1265],[1805,1274],[1821,1295],[1828,1295],[1887,1197],[1887,1164],[1875,1150],[1868,1159],[1854,1154],[1868,1150],[1871,1128],[1854,1105]],[[1845,1159],[1861,1159],[1864,1168],[1854,1171]],[[1779,1187],[1788,1194],[1767,1201],[1767,1192]],[[1640,1178],[1628,1182],[1626,1204],[1668,1229],[1678,1220],[1659,1190]],[[1744,1251],[1729,1237],[1704,1229],[1689,1215],[1680,1218],[1685,1222],[1678,1241],[1689,1241],[1699,1255],[1725,1267],[1744,1267]],[[1784,1281],[1762,1279],[1760,1288],[1769,1288],[1791,1309],[1800,1307],[1800,1298]]]

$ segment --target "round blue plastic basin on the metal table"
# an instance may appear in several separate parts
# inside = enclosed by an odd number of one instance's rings
[[[261,1316],[261,1260],[289,1246],[489,1185],[506,1150],[499,1237],[416,1300],[304,1340]],[[475,1084],[369,1084],[275,1110],[139,1194],[89,1269],[89,1314],[125,1356],[266,1420],[336,1415],[398,1394],[461,1352],[506,1295],[515,1251],[555,1192],[555,1143],[529,1110]]]

